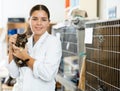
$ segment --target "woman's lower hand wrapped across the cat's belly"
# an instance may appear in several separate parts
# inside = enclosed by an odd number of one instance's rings
[[[23,49],[15,45],[13,45],[13,55],[22,60],[25,60],[29,56],[27,53],[27,48]]]

